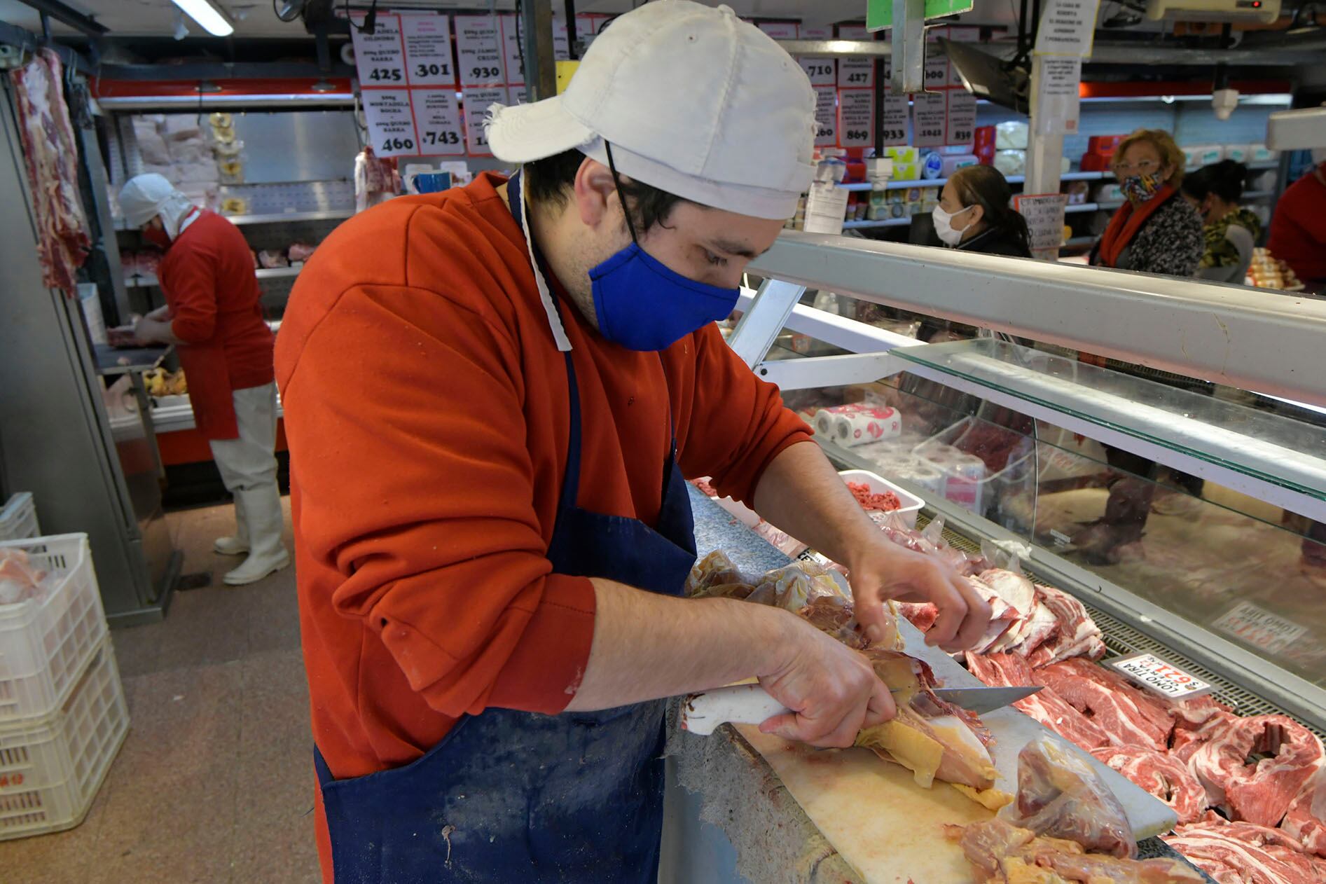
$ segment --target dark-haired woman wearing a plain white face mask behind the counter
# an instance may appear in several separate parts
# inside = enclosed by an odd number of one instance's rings
[[[983,254],[1029,258],[1026,219],[1010,207],[1013,191],[993,166],[957,170],[935,207],[935,233],[949,245]]]

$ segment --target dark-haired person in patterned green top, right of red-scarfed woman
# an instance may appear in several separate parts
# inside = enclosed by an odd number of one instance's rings
[[[1252,264],[1252,250],[1261,221],[1238,205],[1248,167],[1232,159],[1204,166],[1183,179],[1183,199],[1201,213],[1207,250],[1197,265],[1197,278],[1241,285]]]

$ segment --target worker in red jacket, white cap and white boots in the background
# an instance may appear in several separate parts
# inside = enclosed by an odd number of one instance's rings
[[[248,555],[224,580],[261,580],[290,557],[276,484],[274,338],[263,321],[253,253],[239,228],[194,205],[160,175],[130,179],[119,207],[166,250],[156,269],[166,305],[139,319],[134,333],[145,343],[176,346],[194,423],[235,496],[235,534],[217,538],[215,549]]]

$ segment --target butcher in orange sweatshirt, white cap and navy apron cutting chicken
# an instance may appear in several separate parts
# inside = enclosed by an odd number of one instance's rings
[[[757,676],[761,728],[851,745],[892,714],[798,618],[680,598],[684,476],[851,570],[861,622],[988,608],[888,543],[724,345],[812,176],[814,93],[769,37],[684,0],[615,19],[566,91],[495,109],[521,171],[341,225],[276,364],[326,881],[651,881],[663,698]]]

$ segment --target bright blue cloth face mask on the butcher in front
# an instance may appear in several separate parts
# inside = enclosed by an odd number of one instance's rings
[[[626,207],[622,186],[606,144],[617,195]],[[725,319],[740,292],[696,282],[650,256],[636,241],[635,224],[626,212],[631,244],[589,272],[599,333],[627,350],[656,351],[711,322]]]

